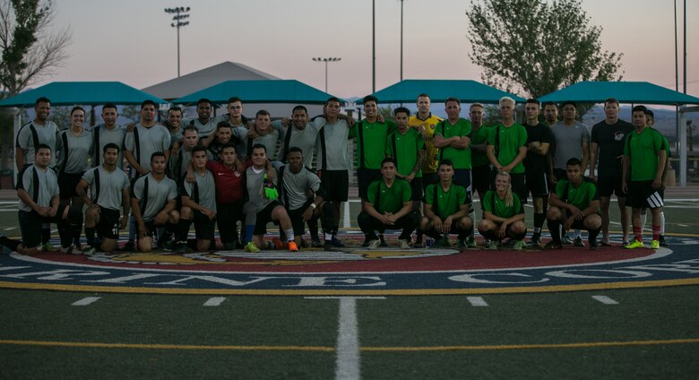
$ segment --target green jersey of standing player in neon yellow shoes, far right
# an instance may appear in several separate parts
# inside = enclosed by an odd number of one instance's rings
[[[660,151],[665,150],[662,134],[646,127],[639,134],[634,131],[626,137],[624,156],[630,160],[632,181],[652,181],[660,163]]]

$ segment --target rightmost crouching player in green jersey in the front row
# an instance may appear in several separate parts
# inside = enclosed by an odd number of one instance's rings
[[[600,194],[597,186],[588,177],[582,177],[582,163],[573,158],[565,163],[567,179],[558,180],[556,191],[548,198],[548,230],[551,241],[544,249],[561,249],[558,226],[567,229],[587,229],[590,249],[597,249],[597,236],[602,227],[600,216]]]

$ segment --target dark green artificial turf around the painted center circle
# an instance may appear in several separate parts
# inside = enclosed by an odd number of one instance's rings
[[[696,232],[697,206],[668,202],[669,235]],[[0,229],[14,218],[0,212]],[[385,298],[0,289],[0,320],[8,379],[699,378],[695,285]]]

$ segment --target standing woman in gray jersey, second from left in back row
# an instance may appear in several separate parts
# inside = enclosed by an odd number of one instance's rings
[[[82,175],[88,169],[88,158],[92,155],[92,133],[82,127],[85,121],[85,110],[73,107],[71,110],[71,126],[58,133],[56,151],[58,159],[58,188],[61,202],[70,203],[77,210],[82,210],[82,199],[75,192]],[[82,213],[81,213],[82,215]],[[73,244],[80,247],[82,219],[73,230]]]

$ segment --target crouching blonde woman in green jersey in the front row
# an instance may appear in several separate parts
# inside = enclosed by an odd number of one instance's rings
[[[489,249],[496,249],[503,238],[514,240],[514,249],[521,250],[527,235],[524,225],[524,207],[517,194],[512,191],[512,179],[506,171],[499,171],[495,178],[495,190],[483,195],[483,219],[479,233],[490,239]]]

